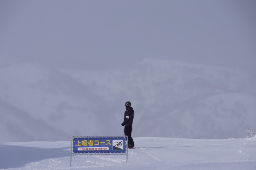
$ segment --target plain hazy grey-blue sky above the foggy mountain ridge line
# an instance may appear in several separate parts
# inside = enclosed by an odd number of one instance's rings
[[[256,70],[255,9],[255,0],[0,0],[0,62],[105,69],[160,58]]]

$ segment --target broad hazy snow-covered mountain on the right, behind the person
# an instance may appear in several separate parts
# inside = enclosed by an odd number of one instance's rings
[[[114,109],[119,101],[133,101],[136,136],[243,138],[255,128],[255,73],[168,60],[66,73],[93,86]]]

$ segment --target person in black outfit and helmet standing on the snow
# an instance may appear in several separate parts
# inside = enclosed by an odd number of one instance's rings
[[[132,130],[133,130],[133,114],[134,110],[131,107],[131,102],[125,102],[126,111],[124,112],[124,119],[122,126],[124,126],[124,135],[128,136],[128,148],[134,147],[134,142],[132,138]]]

